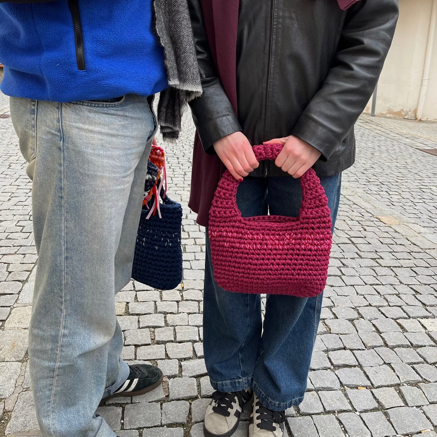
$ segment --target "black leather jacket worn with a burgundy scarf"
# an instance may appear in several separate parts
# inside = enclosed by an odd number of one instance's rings
[[[322,153],[331,176],[355,160],[354,124],[378,81],[398,18],[398,0],[240,0],[238,118],[217,79],[200,0],[188,0],[203,85],[191,103],[207,153],[241,131],[251,144],[295,135]],[[251,176],[284,176],[272,161]]]

